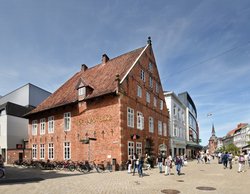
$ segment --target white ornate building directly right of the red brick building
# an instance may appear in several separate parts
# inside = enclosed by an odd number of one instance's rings
[[[164,92],[169,109],[170,154],[172,157],[186,154],[186,106],[178,96],[170,91]]]

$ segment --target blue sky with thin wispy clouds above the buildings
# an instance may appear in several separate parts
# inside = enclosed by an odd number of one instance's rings
[[[217,136],[250,123],[249,19],[248,0],[0,0],[0,95],[53,92],[151,36],[164,90],[188,91],[206,145],[212,123]]]

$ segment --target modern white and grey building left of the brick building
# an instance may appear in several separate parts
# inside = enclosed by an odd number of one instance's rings
[[[0,154],[5,161],[8,161],[10,154],[15,154],[16,159],[25,157],[23,150],[28,137],[28,120],[22,116],[50,94],[28,83],[0,98]]]

